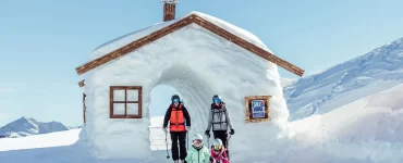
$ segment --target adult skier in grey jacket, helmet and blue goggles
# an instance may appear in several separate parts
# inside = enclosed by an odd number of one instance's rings
[[[215,95],[212,97],[211,111],[209,114],[209,118],[207,121],[207,129],[205,135],[208,138],[210,137],[211,127],[215,139],[219,138],[222,140],[222,143],[227,150],[227,154],[230,155],[227,147],[228,141],[227,130],[230,129],[231,135],[234,135],[235,130],[232,127],[231,116],[230,113],[227,111],[225,103],[222,102],[221,97],[218,95]]]

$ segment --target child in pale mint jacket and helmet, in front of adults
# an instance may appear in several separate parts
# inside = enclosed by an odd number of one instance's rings
[[[185,161],[187,163],[208,163],[210,159],[210,152],[208,148],[203,146],[203,137],[196,134],[192,138],[193,145],[187,150],[187,156]]]

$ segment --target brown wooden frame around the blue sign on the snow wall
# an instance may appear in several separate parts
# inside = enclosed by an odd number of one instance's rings
[[[270,98],[271,96],[248,96],[245,97],[245,123],[259,123],[270,121]],[[265,117],[253,117],[252,101],[265,101]]]

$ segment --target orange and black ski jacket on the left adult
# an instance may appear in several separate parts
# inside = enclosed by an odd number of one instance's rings
[[[170,104],[163,118],[163,127],[167,127],[169,122],[170,131],[186,131],[185,121],[186,126],[191,126],[191,116],[187,112],[187,109],[182,105],[182,103],[180,103],[178,108],[174,108],[172,104]]]

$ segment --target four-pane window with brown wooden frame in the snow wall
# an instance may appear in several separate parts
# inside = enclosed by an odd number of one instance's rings
[[[142,118],[142,86],[110,86],[110,118]]]

